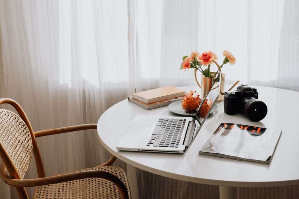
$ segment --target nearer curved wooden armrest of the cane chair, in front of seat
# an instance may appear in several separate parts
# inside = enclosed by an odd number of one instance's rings
[[[56,183],[73,181],[73,180],[79,180],[84,178],[104,178],[106,180],[111,181],[118,187],[121,193],[121,198],[123,199],[129,198],[129,194],[124,183],[115,175],[104,171],[81,171],[77,173],[56,175],[56,176],[45,177],[45,178],[18,180],[9,177],[9,175],[7,174],[7,169],[4,163],[2,162],[0,174],[2,180],[5,183],[17,187],[42,186],[48,184],[56,184]]]

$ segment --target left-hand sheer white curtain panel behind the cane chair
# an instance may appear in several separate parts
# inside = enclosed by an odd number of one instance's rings
[[[1,97],[18,101],[35,131],[97,123],[135,91],[129,89],[126,7],[126,1],[0,1]],[[48,176],[109,157],[95,130],[38,144]],[[30,166],[26,178],[36,177]],[[28,190],[32,197],[34,189]]]

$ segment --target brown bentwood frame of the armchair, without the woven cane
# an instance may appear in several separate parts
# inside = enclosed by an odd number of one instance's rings
[[[0,104],[10,104],[16,109],[16,111],[19,113],[20,118],[25,122],[30,132],[30,137],[32,141],[32,150],[36,162],[38,178],[25,179],[25,180],[22,179],[23,176],[22,177],[20,176],[20,173],[18,172],[12,158],[10,157],[10,154],[7,152],[5,147],[0,143],[0,157],[2,159],[2,164],[0,168],[1,178],[5,183],[16,187],[19,198],[22,199],[29,198],[25,187],[49,185],[49,184],[74,181],[74,180],[79,180],[84,178],[104,178],[108,181],[111,181],[120,190],[122,198],[126,198],[126,199],[129,198],[129,191],[127,190],[125,184],[118,177],[116,177],[115,175],[109,172],[91,170],[91,171],[80,171],[76,173],[62,174],[62,175],[51,176],[51,177],[45,176],[45,170],[42,163],[42,158],[39,152],[39,148],[37,146],[36,138],[46,136],[46,135],[59,134],[59,133],[74,132],[74,131],[87,130],[87,129],[97,129],[97,124],[83,124],[83,125],[77,125],[71,127],[33,132],[33,129],[27,118],[27,115],[25,114],[22,107],[16,101],[9,98],[1,98]],[[116,157],[112,155],[112,157],[106,163],[103,163],[100,166],[110,166],[112,163],[114,163],[115,160]],[[10,174],[10,176],[8,175],[7,172]]]

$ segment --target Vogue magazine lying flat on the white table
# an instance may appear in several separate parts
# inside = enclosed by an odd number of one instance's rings
[[[269,164],[281,129],[222,123],[199,154]]]

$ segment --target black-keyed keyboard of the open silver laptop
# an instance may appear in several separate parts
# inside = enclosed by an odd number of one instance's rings
[[[159,118],[147,146],[179,147],[186,119]]]

